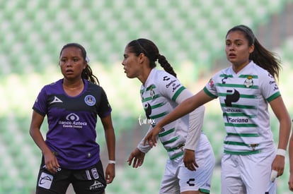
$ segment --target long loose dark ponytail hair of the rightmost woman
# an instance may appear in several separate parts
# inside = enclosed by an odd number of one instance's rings
[[[277,58],[277,54],[265,49],[265,47],[263,47],[260,42],[258,42],[251,28],[248,28],[246,25],[234,26],[234,28],[231,28],[226,33],[226,37],[229,32],[238,30],[245,34],[249,46],[254,44],[254,50],[249,55],[249,59],[253,60],[253,62],[255,62],[255,64],[257,64],[258,66],[267,70],[272,76],[274,76],[274,78],[279,78],[281,61]]]

